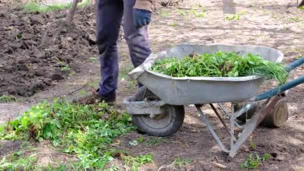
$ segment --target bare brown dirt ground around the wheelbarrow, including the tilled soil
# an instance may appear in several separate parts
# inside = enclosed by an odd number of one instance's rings
[[[158,7],[149,26],[151,48],[157,52],[185,42],[265,45],[281,50],[284,62],[288,63],[304,54],[304,10],[295,6],[296,0],[184,0],[175,7]],[[204,17],[192,12],[201,7],[206,9]],[[62,18],[65,11],[48,14],[1,11],[0,45],[4,48],[0,48],[0,95],[16,95],[23,103],[34,104],[55,96],[72,99],[96,87],[99,61],[95,57],[93,11],[93,6],[78,10],[72,28],[56,35],[47,30],[56,29],[56,24],[51,23]],[[233,13],[238,13],[240,19],[225,19]],[[42,43],[44,34],[46,44]],[[123,98],[135,92],[136,85],[126,75],[132,65],[124,40],[119,40],[118,48],[120,71],[116,107],[122,110]],[[69,73],[61,70],[66,64],[69,64]],[[297,75],[303,71],[304,67],[299,67]],[[221,151],[195,108],[190,106],[185,107],[184,123],[174,135],[159,139],[131,132],[118,137],[115,144],[130,155],[148,152],[153,156],[153,164],[140,170],[157,170],[164,165],[168,166],[161,170],[240,170],[240,163],[249,152],[277,155],[253,170],[304,170],[303,88],[304,85],[299,85],[288,92],[289,119],[286,123],[280,128],[258,127],[251,135],[256,147],[250,148],[246,141],[232,160]],[[204,107],[203,111],[219,138],[228,142],[227,133],[212,110]],[[3,118],[8,119],[1,116]],[[156,140],[152,144],[136,146],[128,143],[138,137]],[[11,149],[11,146],[17,146],[10,141],[3,143]],[[72,159],[47,145],[39,146],[39,157],[45,163],[60,157]],[[170,165],[177,157],[189,162],[181,167]],[[213,162],[227,167],[219,168]],[[119,158],[108,166],[112,164],[123,169],[123,161]]]

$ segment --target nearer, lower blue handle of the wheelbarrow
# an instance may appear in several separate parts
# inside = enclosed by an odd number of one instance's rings
[[[253,97],[251,97],[248,101],[258,101],[258,100],[262,100],[262,99],[266,99],[266,98],[270,98],[274,95],[280,94],[281,92],[286,91],[287,89],[290,89],[296,85],[299,85],[301,83],[304,83],[304,75],[293,79],[291,81],[288,81],[278,87],[272,88],[264,93],[261,94],[257,94]]]

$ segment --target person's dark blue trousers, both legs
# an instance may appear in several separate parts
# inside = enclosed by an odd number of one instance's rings
[[[118,54],[116,41],[119,36],[122,16],[124,38],[133,66],[140,65],[151,53],[147,27],[136,29],[133,24],[134,4],[135,0],[97,0],[96,39],[100,59],[100,95],[111,95],[115,93],[117,88]]]

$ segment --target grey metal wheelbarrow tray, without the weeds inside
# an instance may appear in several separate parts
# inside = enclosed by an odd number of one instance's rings
[[[129,72],[160,99],[171,105],[246,101],[256,94],[263,78],[243,77],[171,77],[148,70],[156,61],[176,57],[181,59],[195,52],[236,51],[239,55],[259,54],[263,59],[281,62],[283,53],[259,45],[181,44],[160,53],[151,53],[146,60]]]

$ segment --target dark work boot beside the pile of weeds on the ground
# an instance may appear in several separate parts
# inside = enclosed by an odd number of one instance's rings
[[[116,101],[115,92],[112,92],[111,94],[109,94],[107,96],[103,96],[103,95],[100,95],[98,93],[98,91],[99,91],[99,88],[92,89],[92,91],[89,95],[74,99],[72,102],[78,103],[78,104],[93,104],[93,103],[104,101],[105,103],[113,104]]]

